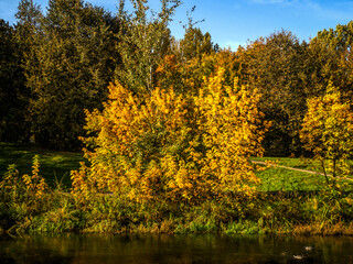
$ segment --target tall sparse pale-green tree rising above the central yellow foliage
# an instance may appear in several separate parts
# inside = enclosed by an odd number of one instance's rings
[[[122,64],[116,79],[135,92],[151,92],[154,87],[153,74],[169,52],[171,15],[179,7],[179,0],[162,0],[159,13],[151,11],[146,0],[131,0],[133,13],[125,10],[120,0],[119,18],[121,28],[118,44]]]

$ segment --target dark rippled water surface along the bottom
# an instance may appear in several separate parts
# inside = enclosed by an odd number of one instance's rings
[[[308,245],[314,245],[314,249],[307,251],[304,246]],[[353,263],[353,238],[216,234],[0,237],[0,263],[350,264]]]

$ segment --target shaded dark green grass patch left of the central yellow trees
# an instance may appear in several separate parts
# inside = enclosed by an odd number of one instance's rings
[[[56,180],[64,188],[71,187],[69,172],[79,168],[84,161],[81,153],[49,151],[31,144],[0,143],[0,179],[10,164],[15,164],[20,174],[31,174],[34,155],[40,156],[40,174],[54,187]]]

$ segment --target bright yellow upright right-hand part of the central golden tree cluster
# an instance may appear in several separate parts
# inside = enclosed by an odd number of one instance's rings
[[[245,191],[250,194],[258,183],[250,155],[261,155],[260,130],[263,113],[258,111],[259,94],[244,86],[222,85],[224,69],[208,78],[200,90],[195,103],[201,118],[206,155],[201,161],[202,175],[212,175],[212,188],[220,191]],[[214,180],[214,177],[215,180]]]

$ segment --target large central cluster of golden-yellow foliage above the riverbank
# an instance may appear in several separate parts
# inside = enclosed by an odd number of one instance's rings
[[[111,85],[104,111],[86,112],[89,166],[72,173],[76,197],[109,191],[137,201],[197,202],[252,195],[258,178],[249,156],[263,154],[267,125],[256,90],[226,86],[224,74],[218,67],[190,95],[157,87],[137,97]]]

